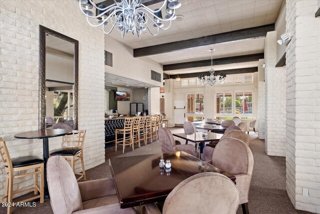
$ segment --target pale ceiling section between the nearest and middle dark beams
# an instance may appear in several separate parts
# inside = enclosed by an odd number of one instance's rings
[[[148,56],[148,58],[162,65],[208,60],[211,59],[210,49],[215,49],[213,59],[262,53],[264,50],[264,38],[202,46],[165,54],[151,55]]]

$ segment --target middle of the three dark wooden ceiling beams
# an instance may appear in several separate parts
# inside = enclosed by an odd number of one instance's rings
[[[257,61],[263,58],[264,58],[264,53],[250,54],[250,55],[243,55],[243,56],[236,56],[236,57],[225,57],[225,58],[214,59],[213,65],[226,65],[226,64],[232,64],[232,63],[252,62],[252,61]],[[200,61],[194,61],[194,62],[176,63],[176,64],[163,65],[163,71],[171,71],[171,70],[186,69],[186,68],[197,68],[197,67],[204,67],[204,66],[210,66],[210,65],[211,65],[211,60],[200,60]]]

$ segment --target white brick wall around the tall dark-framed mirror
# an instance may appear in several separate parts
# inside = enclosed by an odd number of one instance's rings
[[[11,158],[42,156],[42,141],[15,139],[15,133],[38,129],[39,25],[79,41],[79,129],[86,129],[85,168],[104,162],[104,34],[90,27],[76,1],[0,1],[0,136]],[[50,150],[61,137],[50,138]],[[77,164],[77,168],[79,168]],[[0,197],[3,195],[0,162]],[[14,189],[32,184],[32,177],[14,181]]]

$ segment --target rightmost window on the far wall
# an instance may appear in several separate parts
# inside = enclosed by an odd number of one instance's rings
[[[252,92],[235,93],[235,114],[252,114]]]

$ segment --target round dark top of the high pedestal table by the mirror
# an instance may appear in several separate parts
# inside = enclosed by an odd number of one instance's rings
[[[45,138],[45,137],[57,137],[72,132],[71,129],[45,129],[38,131],[27,131],[15,134],[15,138],[20,139],[32,139],[32,138]]]

